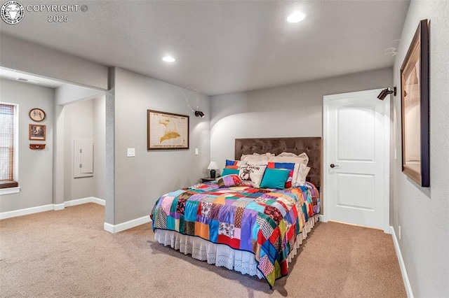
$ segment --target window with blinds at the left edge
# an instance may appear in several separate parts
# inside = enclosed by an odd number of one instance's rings
[[[0,188],[18,186],[14,181],[17,109],[14,104],[0,103]]]

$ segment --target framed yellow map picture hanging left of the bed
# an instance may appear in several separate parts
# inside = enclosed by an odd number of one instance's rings
[[[147,110],[147,150],[189,149],[189,116]]]

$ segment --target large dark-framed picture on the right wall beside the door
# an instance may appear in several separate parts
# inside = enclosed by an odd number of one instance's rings
[[[420,21],[401,66],[402,171],[430,186],[429,26]]]

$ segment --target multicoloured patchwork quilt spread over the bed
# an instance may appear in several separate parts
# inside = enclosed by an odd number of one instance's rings
[[[319,192],[307,183],[284,190],[220,187],[216,181],[159,198],[153,230],[168,229],[254,254],[270,285],[288,274],[288,254],[305,222],[320,212]]]

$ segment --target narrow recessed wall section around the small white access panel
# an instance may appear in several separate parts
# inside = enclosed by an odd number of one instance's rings
[[[93,140],[93,100],[76,101],[64,110],[64,201],[93,197],[94,178],[74,178],[73,162],[74,139]]]

